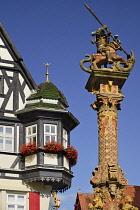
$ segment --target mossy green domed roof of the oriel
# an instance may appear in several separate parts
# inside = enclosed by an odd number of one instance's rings
[[[40,100],[39,100],[40,99]],[[50,99],[46,102],[43,99]],[[66,108],[68,102],[63,93],[51,82],[44,82],[38,85],[37,92],[31,94],[27,99],[26,108],[28,107],[49,107],[49,108]],[[51,100],[57,100],[53,103]],[[30,101],[30,103],[28,103]],[[45,101],[45,102],[44,102]],[[33,103],[31,103],[33,102]]]

